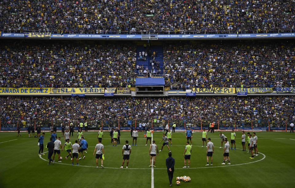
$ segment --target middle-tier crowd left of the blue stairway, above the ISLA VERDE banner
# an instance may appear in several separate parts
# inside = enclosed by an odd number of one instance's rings
[[[130,87],[136,48],[82,42],[0,44],[1,87]]]

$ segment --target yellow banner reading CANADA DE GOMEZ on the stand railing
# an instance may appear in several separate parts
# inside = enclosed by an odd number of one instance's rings
[[[10,88],[1,87],[0,94],[50,94],[50,88],[40,87],[21,87],[21,88]]]

